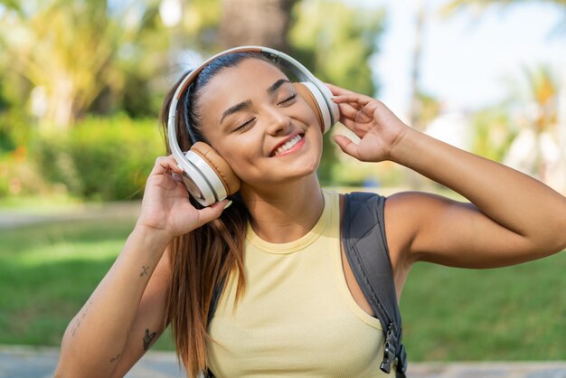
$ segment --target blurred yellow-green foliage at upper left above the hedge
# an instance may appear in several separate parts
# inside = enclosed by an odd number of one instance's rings
[[[0,82],[19,81],[20,105],[44,128],[67,128],[88,112],[155,117],[162,72],[184,49],[213,44],[203,29],[220,16],[209,3],[191,2],[182,24],[168,28],[154,0],[0,1],[0,65],[9,73]]]

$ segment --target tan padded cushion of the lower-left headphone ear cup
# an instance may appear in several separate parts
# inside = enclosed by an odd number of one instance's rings
[[[218,201],[240,190],[240,178],[212,146],[204,142],[196,142],[191,146],[191,151],[200,156],[212,171],[205,173],[205,176],[212,185]]]

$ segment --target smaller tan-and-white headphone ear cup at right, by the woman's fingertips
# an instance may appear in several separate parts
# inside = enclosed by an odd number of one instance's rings
[[[331,99],[332,92],[322,82],[320,82],[320,85],[325,91],[320,90],[318,86],[309,81],[296,82],[294,85],[297,93],[315,110],[321,131],[325,134],[340,118],[338,106]]]

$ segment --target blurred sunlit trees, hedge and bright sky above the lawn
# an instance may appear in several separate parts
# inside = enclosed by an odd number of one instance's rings
[[[163,154],[165,91],[241,44],[288,52],[412,127],[564,193],[565,20],[563,1],[2,1],[0,200],[138,198]],[[431,185],[330,143],[319,176]]]

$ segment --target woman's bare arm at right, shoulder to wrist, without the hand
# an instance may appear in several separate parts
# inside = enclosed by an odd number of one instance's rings
[[[494,268],[566,248],[566,198],[532,177],[412,129],[391,160],[471,202],[431,194],[392,196],[390,210],[409,224],[412,260]]]

